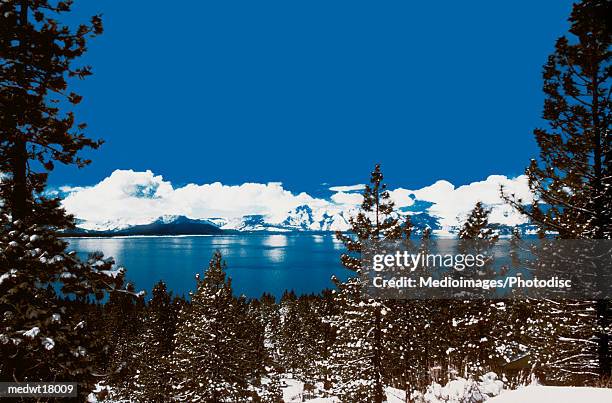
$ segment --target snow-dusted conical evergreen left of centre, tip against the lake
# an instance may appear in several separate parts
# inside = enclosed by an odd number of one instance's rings
[[[235,402],[246,400],[242,352],[251,348],[242,329],[226,278],[221,253],[215,252],[204,278],[196,276],[191,303],[179,313],[170,359],[173,399],[177,401]]]

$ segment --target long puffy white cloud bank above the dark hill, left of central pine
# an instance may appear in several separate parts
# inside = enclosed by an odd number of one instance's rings
[[[174,188],[151,171],[116,170],[97,185],[63,188],[63,205],[69,213],[94,228],[106,223],[144,224],[162,215],[191,218],[236,218],[262,214],[279,222],[297,206],[322,207],[328,201],[306,193],[293,194],[280,183],[244,183],[227,186],[219,182]]]

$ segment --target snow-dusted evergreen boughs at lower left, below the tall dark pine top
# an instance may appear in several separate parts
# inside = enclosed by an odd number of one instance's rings
[[[79,260],[46,228],[10,228],[0,238],[0,378],[77,381],[85,393],[104,348],[89,305],[121,292],[123,271],[99,254]]]

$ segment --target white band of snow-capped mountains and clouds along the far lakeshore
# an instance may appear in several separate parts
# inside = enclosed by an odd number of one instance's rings
[[[327,186],[327,185],[326,185]],[[456,234],[476,202],[491,210],[489,222],[501,233],[525,217],[500,197],[508,194],[531,203],[525,176],[490,175],[485,180],[455,186],[439,180],[418,189],[389,190],[399,216],[409,215],[415,234],[431,228],[434,235]],[[84,234],[173,234],[223,231],[345,231],[362,202],[363,185],[330,186],[317,194],[292,192],[279,182],[173,186],[151,171],[116,170],[98,184],[62,187],[66,211],[77,217]]]

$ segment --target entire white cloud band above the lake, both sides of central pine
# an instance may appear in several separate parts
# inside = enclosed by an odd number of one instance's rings
[[[484,181],[459,187],[440,180],[421,189],[397,188],[389,193],[397,207],[409,207],[415,199],[432,203],[428,212],[438,216],[440,224],[446,227],[459,225],[478,201],[492,208],[491,222],[507,225],[524,222],[522,216],[501,200],[500,185],[526,202],[531,201],[525,176],[510,179],[492,175]],[[310,206],[315,215],[323,211],[347,213],[361,204],[362,196],[355,191],[363,186],[331,187],[334,193],[325,200],[303,192],[294,194],[278,182],[236,186],[215,182],[175,188],[151,171],[116,170],[94,186],[61,190],[67,194],[63,205],[69,213],[84,220],[86,228],[100,228],[145,224],[163,215],[231,220],[261,214],[270,223],[280,223],[289,211],[301,205]]]

